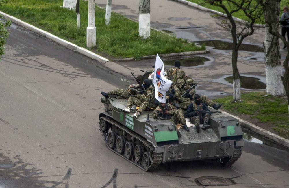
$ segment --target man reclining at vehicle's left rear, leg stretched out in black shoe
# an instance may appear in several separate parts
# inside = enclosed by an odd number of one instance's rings
[[[139,81],[141,81],[142,79],[142,76],[138,76],[137,79]],[[112,91],[109,91],[108,93],[105,93],[105,92],[101,92],[101,94],[105,97],[105,98],[108,98],[110,95],[118,95],[118,96],[121,96],[123,98],[129,98],[129,96],[131,95],[134,95],[135,94],[135,90],[139,88],[139,85],[138,84],[132,84],[130,85],[127,89],[123,90],[123,89],[120,89],[120,88],[117,88],[115,90],[112,90]]]

